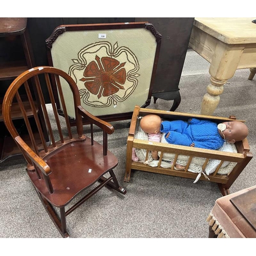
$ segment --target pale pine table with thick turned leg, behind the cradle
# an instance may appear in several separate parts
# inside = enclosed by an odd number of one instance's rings
[[[212,115],[223,86],[237,69],[256,67],[254,18],[195,18],[189,46],[210,63],[210,84],[201,106],[202,115]]]

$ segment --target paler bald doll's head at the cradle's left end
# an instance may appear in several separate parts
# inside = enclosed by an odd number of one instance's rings
[[[161,122],[160,116],[150,114],[141,118],[140,127],[145,133],[159,133]]]

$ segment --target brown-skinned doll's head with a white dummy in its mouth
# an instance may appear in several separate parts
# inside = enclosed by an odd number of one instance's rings
[[[248,127],[240,121],[228,121],[218,124],[219,134],[229,143],[245,139],[248,136]]]

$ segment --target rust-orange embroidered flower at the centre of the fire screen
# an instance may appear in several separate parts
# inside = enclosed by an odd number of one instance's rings
[[[126,71],[123,68],[125,62],[121,63],[114,58],[102,57],[96,55],[96,61],[91,61],[83,72],[84,86],[92,94],[101,96],[110,96],[124,90],[122,86],[126,80]]]

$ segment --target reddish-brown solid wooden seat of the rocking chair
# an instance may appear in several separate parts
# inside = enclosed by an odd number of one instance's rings
[[[40,194],[56,207],[70,203],[75,195],[93,185],[100,176],[116,167],[118,163],[110,151],[103,156],[102,145],[96,141],[91,145],[89,137],[84,141],[69,143],[62,147],[61,151],[47,155],[44,160],[52,169],[50,178],[55,188],[52,194],[45,186],[44,179],[39,180],[35,172],[28,174]]]

